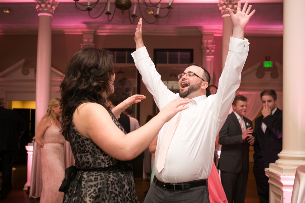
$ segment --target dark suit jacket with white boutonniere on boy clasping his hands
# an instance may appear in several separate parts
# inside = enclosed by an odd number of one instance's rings
[[[252,127],[251,120],[244,117],[244,121],[246,128]],[[219,131],[219,144],[222,145],[218,163],[221,171],[238,173],[243,167],[244,173],[249,173],[250,144],[247,138],[242,140],[242,128],[234,112],[228,115]]]

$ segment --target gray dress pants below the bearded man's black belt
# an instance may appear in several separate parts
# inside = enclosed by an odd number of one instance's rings
[[[209,203],[208,186],[192,187],[184,190],[166,190],[154,182],[150,186],[144,203]]]

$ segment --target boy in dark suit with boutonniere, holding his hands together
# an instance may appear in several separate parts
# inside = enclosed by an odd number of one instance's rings
[[[221,154],[218,167],[221,170],[221,183],[228,202],[243,203],[249,173],[249,146],[254,144],[252,121],[244,117],[247,99],[235,96],[233,112],[219,132]]]

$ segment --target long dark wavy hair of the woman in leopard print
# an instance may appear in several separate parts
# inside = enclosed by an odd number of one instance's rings
[[[85,48],[73,55],[67,66],[67,74],[60,85],[63,108],[62,133],[66,140],[78,105],[96,102],[105,105],[102,95],[110,95],[111,75],[114,73],[112,54],[105,49]]]

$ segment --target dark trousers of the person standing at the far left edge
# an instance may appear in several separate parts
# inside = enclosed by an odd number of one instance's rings
[[[7,195],[12,189],[12,169],[13,169],[13,159],[14,150],[1,150],[1,169],[2,169],[2,188],[0,194]]]

